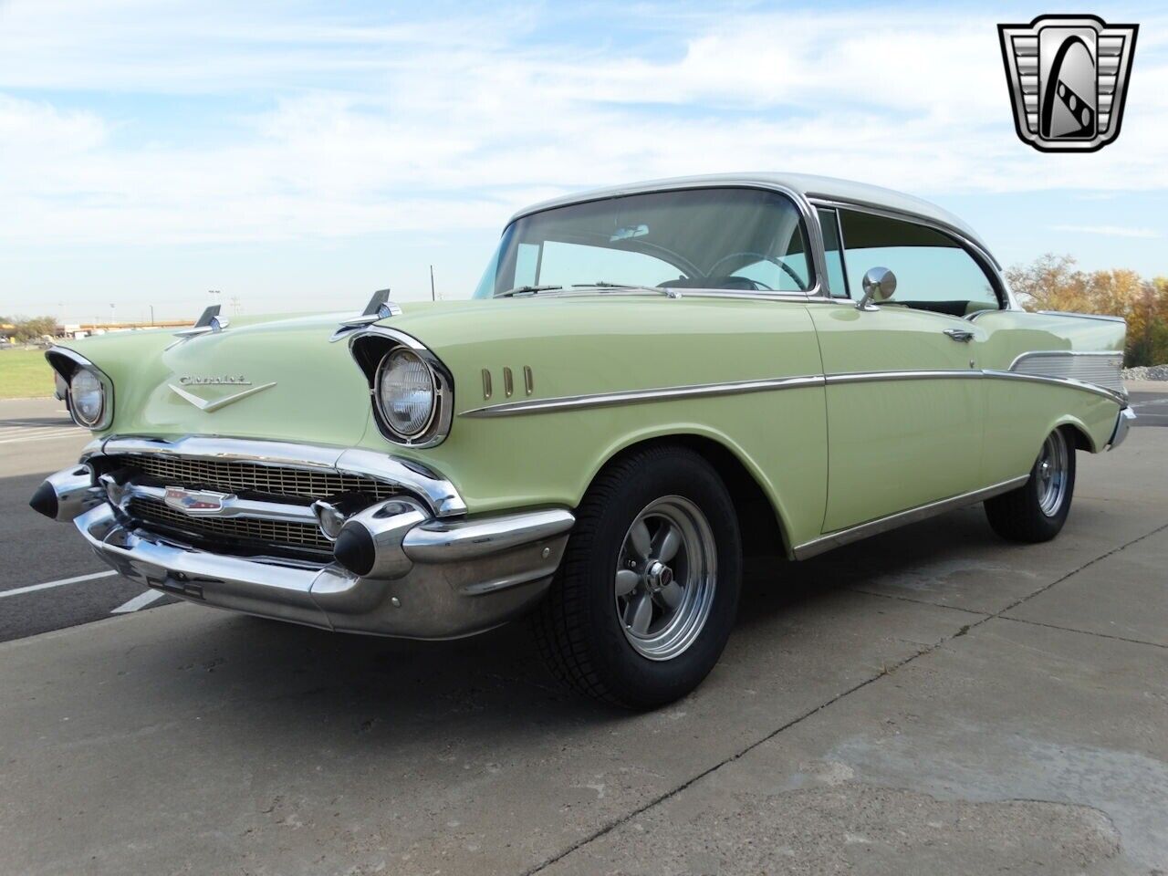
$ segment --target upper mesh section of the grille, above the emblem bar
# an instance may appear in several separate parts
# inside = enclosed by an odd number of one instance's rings
[[[165,454],[124,454],[107,459],[111,467],[137,468],[150,478],[164,481],[167,486],[199,487],[221,493],[253,492],[301,499],[364,493],[375,499],[389,499],[399,492],[394,484],[333,471]]]

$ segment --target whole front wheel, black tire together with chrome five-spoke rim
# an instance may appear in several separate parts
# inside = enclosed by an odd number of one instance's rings
[[[611,464],[577,512],[534,618],[552,674],[633,709],[672,702],[709,674],[738,610],[742,543],[717,473],[687,447]]]

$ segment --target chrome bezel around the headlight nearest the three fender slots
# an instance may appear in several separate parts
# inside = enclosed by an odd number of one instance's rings
[[[454,415],[454,382],[446,366],[411,335],[384,326],[360,329],[349,340],[349,350],[369,383],[374,422],[384,438],[403,447],[433,447],[450,434]],[[382,375],[390,356],[404,352],[425,368],[433,387],[433,405],[425,425],[411,434],[397,430],[382,408]]]

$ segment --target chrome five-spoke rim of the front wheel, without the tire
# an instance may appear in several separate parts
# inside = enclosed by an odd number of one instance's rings
[[[717,584],[717,545],[696,505],[670,495],[628,528],[614,576],[616,611],[633,649],[669,660],[702,632]]]

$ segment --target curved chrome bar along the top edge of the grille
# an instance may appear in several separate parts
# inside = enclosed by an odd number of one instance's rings
[[[120,453],[161,453],[193,459],[220,459],[287,468],[325,468],[342,474],[362,474],[399,485],[422,498],[438,517],[466,514],[466,502],[454,485],[412,459],[391,457],[357,447],[328,447],[250,438],[187,436],[175,440],[113,436],[98,447],[86,447],[83,460]]]

